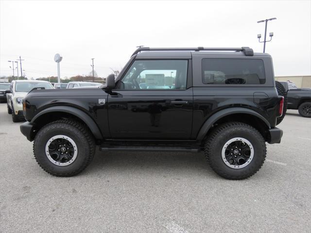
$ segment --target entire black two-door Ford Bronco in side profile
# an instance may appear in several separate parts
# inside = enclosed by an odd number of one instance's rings
[[[280,143],[272,58],[242,48],[136,50],[99,88],[33,90],[23,100],[38,164],[73,176],[101,151],[204,151],[222,177],[255,174]]]

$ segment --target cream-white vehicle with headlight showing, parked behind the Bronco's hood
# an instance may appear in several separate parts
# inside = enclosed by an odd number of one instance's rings
[[[22,101],[34,88],[54,89],[52,84],[46,81],[14,80],[10,88],[6,90],[8,114],[12,114],[13,122],[24,119]]]

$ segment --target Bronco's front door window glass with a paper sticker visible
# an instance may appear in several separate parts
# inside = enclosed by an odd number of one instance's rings
[[[124,90],[185,90],[188,60],[136,60],[121,79]]]

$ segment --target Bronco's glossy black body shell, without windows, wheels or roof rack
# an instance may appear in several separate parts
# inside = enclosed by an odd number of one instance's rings
[[[203,84],[201,60],[215,57],[262,59],[266,83],[243,86]],[[121,78],[135,59],[163,58],[189,61],[186,90],[118,88]],[[105,103],[100,104],[99,100],[103,99]],[[276,126],[280,99],[275,88],[272,59],[269,54],[255,53],[254,56],[245,56],[241,52],[153,51],[132,56],[116,79],[116,88],[111,91],[104,91],[101,88],[35,90],[30,92],[24,101],[26,104],[24,115],[31,123],[32,130],[37,131],[42,127],[40,122],[46,124],[46,118],[50,117],[51,112],[39,116],[44,109],[52,106],[68,106],[89,116],[87,119],[93,121],[101,133],[101,136],[95,136],[96,139],[103,142],[107,139],[201,141],[202,138],[198,135],[211,116],[221,113],[222,110],[241,108],[252,112],[253,116],[259,115],[259,122],[262,124],[259,127],[268,132]],[[77,116],[79,111],[75,117],[79,118]],[[230,117],[229,112],[226,111],[224,116]],[[243,116],[248,117],[247,114]],[[213,124],[206,126],[207,130],[212,126]],[[34,135],[35,133],[27,138],[32,140]],[[268,134],[264,137],[269,141]]]

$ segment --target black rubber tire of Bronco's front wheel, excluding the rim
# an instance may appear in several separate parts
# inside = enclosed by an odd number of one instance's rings
[[[77,157],[68,166],[57,166],[46,155],[48,140],[59,134],[69,136],[77,145]],[[33,150],[35,160],[43,170],[53,176],[69,177],[80,173],[89,165],[94,157],[95,147],[94,137],[83,123],[75,120],[57,120],[39,130],[35,135]]]

